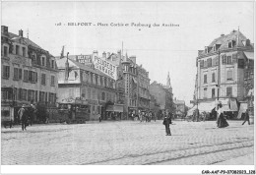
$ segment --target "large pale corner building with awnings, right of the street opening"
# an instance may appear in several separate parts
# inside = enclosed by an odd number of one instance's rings
[[[237,111],[236,102],[246,95],[245,60],[251,52],[253,45],[239,29],[222,34],[198,51],[195,101],[200,111],[211,111],[216,99],[228,106],[226,110]]]

